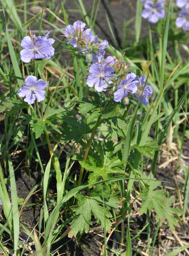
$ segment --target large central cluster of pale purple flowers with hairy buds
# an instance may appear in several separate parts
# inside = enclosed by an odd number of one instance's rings
[[[145,76],[142,76],[142,82],[140,82],[138,76],[132,72],[127,72],[129,64],[126,64],[125,61],[120,62],[117,59],[114,60],[112,56],[108,56],[104,60],[104,49],[108,45],[107,40],[98,43],[98,36],[94,36],[91,29],[85,26],[85,23],[77,20],[73,26],[68,25],[65,28],[64,36],[66,37],[66,41],[74,48],[86,53],[88,63],[92,62],[86,84],[89,87],[94,86],[98,92],[106,91],[110,84],[113,85],[115,88],[114,101],[116,102],[121,102],[122,99],[130,95],[138,100],[142,93],[141,101],[145,105],[148,105],[148,99],[146,97],[151,96],[152,88],[149,85],[143,84]],[[120,73],[121,75],[119,76]],[[146,86],[146,89],[142,92],[144,86]],[[125,100],[125,102],[128,102],[128,100]]]

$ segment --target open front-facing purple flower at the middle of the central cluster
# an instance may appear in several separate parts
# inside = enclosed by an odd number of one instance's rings
[[[114,74],[111,74],[114,71],[114,68],[108,67],[107,65],[101,66],[98,63],[93,64],[89,68],[91,74],[88,76],[86,84],[90,87],[95,85],[95,90],[97,90],[97,92],[105,91],[104,88],[108,86],[105,82],[114,76]]]

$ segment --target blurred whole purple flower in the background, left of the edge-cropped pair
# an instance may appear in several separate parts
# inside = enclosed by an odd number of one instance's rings
[[[142,11],[142,18],[148,19],[151,23],[157,23],[159,18],[163,19],[165,16],[164,3],[158,1],[153,3],[152,1],[146,1],[144,4],[144,10]]]

